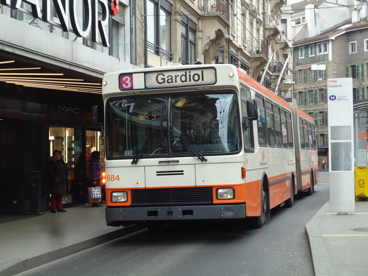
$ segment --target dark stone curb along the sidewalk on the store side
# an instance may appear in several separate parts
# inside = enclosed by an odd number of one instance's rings
[[[0,276],[11,276],[17,273],[25,272],[29,269],[36,268],[40,265],[44,265],[49,262],[56,261],[58,259],[64,258],[66,256],[81,252],[83,250],[95,247],[108,241],[115,240],[117,238],[123,237],[125,235],[134,233],[138,230],[144,229],[142,225],[131,225],[118,230],[111,231],[109,233],[102,234],[100,236],[87,238],[86,240],[79,239],[77,243],[66,244],[62,247],[55,247],[52,250],[43,250],[39,255],[31,254],[32,256],[27,256],[23,260],[15,260],[15,263],[9,264],[9,266],[0,271]],[[8,262],[14,262],[10,260]],[[18,262],[17,262],[18,261]],[[6,265],[6,263],[4,263]]]

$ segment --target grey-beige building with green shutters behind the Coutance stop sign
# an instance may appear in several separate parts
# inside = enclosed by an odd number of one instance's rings
[[[293,15],[293,93],[298,107],[315,119],[320,169],[323,160],[328,169],[327,79],[353,78],[354,102],[367,99],[368,6],[305,1],[293,8],[302,4],[303,12]],[[340,22],[330,20],[332,12]]]

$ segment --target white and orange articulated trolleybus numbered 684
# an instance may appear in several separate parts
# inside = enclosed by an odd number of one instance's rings
[[[108,73],[102,95],[109,226],[262,227],[319,181],[313,118],[233,65]]]

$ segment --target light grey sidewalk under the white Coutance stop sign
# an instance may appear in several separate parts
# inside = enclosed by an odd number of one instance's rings
[[[367,275],[368,202],[355,213],[330,213],[328,201],[305,226],[315,276]]]

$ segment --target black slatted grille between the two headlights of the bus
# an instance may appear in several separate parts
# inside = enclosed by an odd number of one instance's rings
[[[211,204],[212,188],[170,188],[132,190],[131,205]]]

